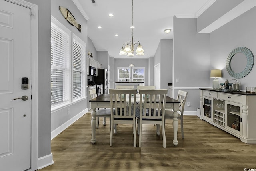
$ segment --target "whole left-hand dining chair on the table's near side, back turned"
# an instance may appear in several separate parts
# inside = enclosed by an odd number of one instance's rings
[[[110,129],[110,146],[112,146],[114,124],[132,124],[134,147],[136,147],[136,92],[137,89],[109,89],[111,122],[113,123]]]

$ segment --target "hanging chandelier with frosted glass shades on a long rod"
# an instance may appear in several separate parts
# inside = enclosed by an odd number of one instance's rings
[[[142,48],[142,45],[140,45],[139,41],[133,42],[133,28],[134,28],[134,26],[133,26],[133,0],[132,0],[132,26],[131,26],[131,28],[132,28],[132,41],[128,40],[127,43],[124,43],[122,45],[122,49],[120,50],[119,55],[127,55],[130,57],[133,57],[134,56],[134,46],[137,45],[137,49],[135,51],[136,55],[142,56],[142,55],[144,55],[144,53],[143,53],[144,50]],[[126,46],[124,47],[125,44],[126,44]],[[133,65],[133,64],[131,64],[131,65]],[[134,67],[134,65],[131,67]]]

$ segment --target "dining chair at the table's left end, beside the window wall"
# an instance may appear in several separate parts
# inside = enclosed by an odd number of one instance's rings
[[[89,90],[89,94],[90,94],[90,99],[96,98],[97,97],[96,89]],[[110,108],[96,109],[96,128],[99,128],[100,117],[103,118],[103,125],[106,125],[106,117],[107,118],[111,117]],[[111,119],[109,119],[109,121],[110,121],[110,128],[111,128]]]

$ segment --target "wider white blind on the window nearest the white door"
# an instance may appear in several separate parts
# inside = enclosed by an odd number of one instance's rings
[[[69,35],[51,24],[51,104],[61,104],[69,100]]]

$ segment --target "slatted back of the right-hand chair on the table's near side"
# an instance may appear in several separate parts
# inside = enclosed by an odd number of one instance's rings
[[[140,117],[142,119],[164,118],[167,89],[140,89]]]

